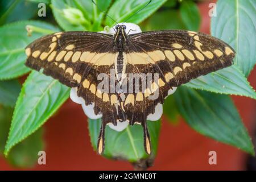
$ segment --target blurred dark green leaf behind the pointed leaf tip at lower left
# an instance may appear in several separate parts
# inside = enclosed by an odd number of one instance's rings
[[[0,106],[0,153],[3,153],[11,125],[13,109]],[[7,160],[16,167],[33,167],[38,160],[38,152],[44,148],[43,132],[36,131],[10,152]]]

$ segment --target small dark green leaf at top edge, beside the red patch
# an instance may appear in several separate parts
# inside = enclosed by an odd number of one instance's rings
[[[201,16],[199,9],[193,1],[182,1],[180,6],[180,15],[186,29],[198,31],[200,28]]]

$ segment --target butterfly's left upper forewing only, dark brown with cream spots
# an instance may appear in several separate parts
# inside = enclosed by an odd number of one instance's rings
[[[112,36],[96,32],[57,32],[43,36],[26,47],[26,65],[76,87],[90,69],[106,65],[112,49]],[[110,52],[111,53],[111,52]],[[114,64],[109,60],[108,66]],[[98,68],[99,69],[99,68]]]

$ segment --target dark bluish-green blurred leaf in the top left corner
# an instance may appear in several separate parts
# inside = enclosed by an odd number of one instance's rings
[[[0,7],[0,25],[33,18],[38,12],[38,6],[24,0],[0,1]]]

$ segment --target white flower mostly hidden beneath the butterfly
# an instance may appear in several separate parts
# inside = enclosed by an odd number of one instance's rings
[[[119,23],[119,24],[122,24],[122,23]],[[125,26],[126,26],[126,34],[128,34],[128,32],[129,32],[129,34],[137,34],[137,33],[142,32],[141,28],[137,24],[134,24],[134,23],[123,23],[123,24],[125,24]],[[112,28],[107,27],[107,28],[105,28],[104,31],[101,31],[101,33],[115,34],[114,30],[115,30],[115,26]],[[176,90],[175,87],[173,89],[170,89],[168,91],[168,95],[173,94],[175,92],[175,90]],[[94,110],[93,110],[94,104],[86,106],[84,99],[77,96],[77,88],[71,89],[70,98],[73,102],[76,102],[77,104],[82,105],[82,109],[84,110],[84,113],[87,115],[88,118],[99,119],[102,117],[102,114],[96,115],[94,113]],[[163,114],[163,105],[158,104],[155,107],[155,113],[149,114],[147,116],[147,120],[158,121],[161,118],[162,114]],[[122,131],[128,126],[128,124],[129,124],[128,121],[125,121],[125,122],[118,121],[117,126],[114,126],[112,123],[110,123],[109,127],[115,131]]]

